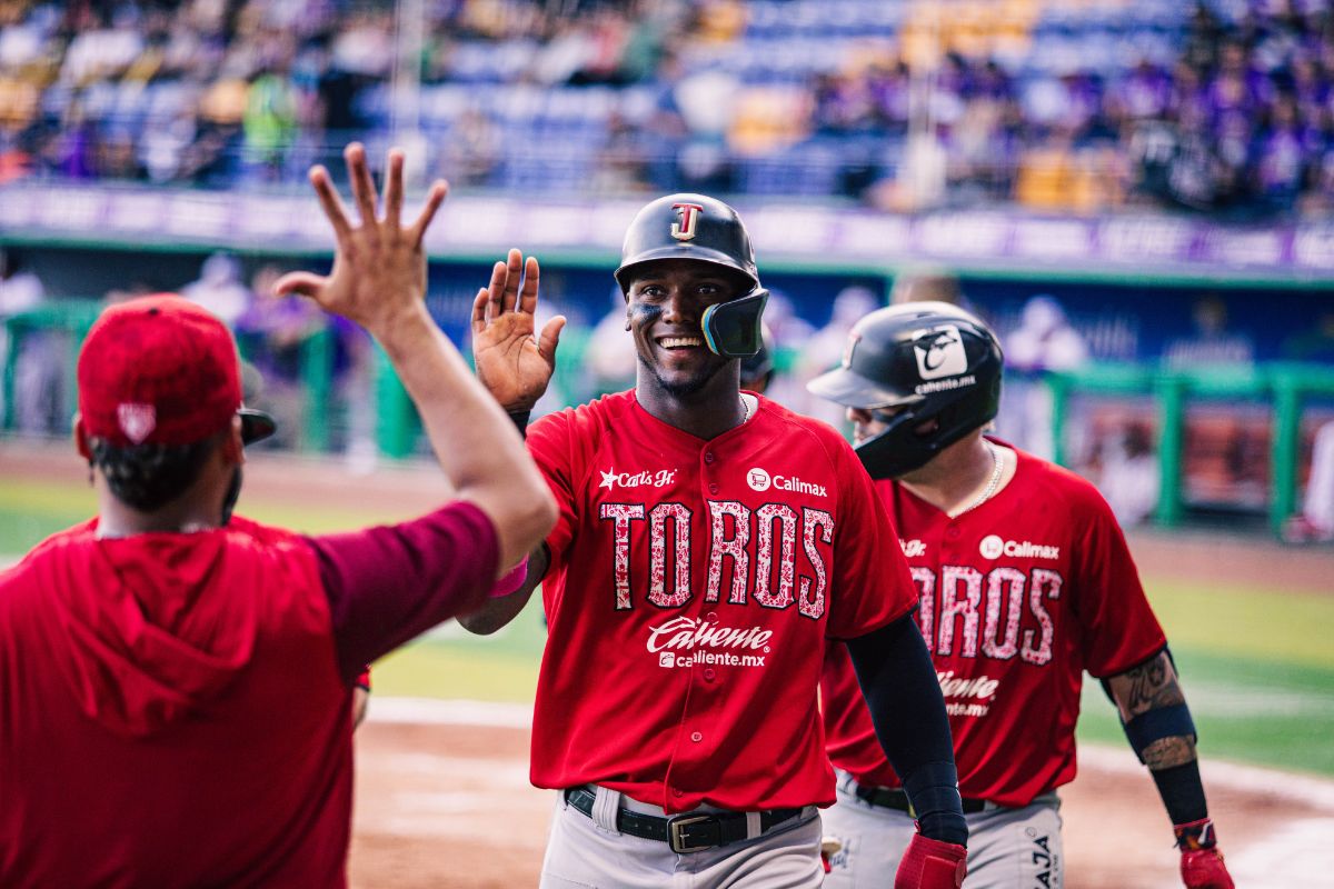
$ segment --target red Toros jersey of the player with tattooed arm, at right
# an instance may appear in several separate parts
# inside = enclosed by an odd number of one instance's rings
[[[1017,453],[1010,484],[955,518],[876,482],[920,594],[959,790],[1010,806],[1075,777],[1083,672],[1115,676],[1166,645],[1102,494]],[[834,764],[896,786],[842,645],[826,658],[822,693]]]

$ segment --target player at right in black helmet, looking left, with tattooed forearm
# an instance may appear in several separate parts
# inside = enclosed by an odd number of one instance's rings
[[[1097,489],[983,435],[1000,397],[992,332],[946,303],[879,309],[810,389],[847,407],[918,584],[918,621],[950,713],[967,814],[968,886],[1061,886],[1057,788],[1075,776],[1083,670],[1099,677],[1149,766],[1191,889],[1230,889],[1195,760],[1195,728],[1121,528]],[[828,886],[880,886],[912,832],[847,653],[822,684],[842,849]]]

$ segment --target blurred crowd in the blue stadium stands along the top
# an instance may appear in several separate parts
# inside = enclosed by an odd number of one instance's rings
[[[1322,215],[1331,75],[1327,0],[0,0],[0,183],[419,132],[463,187]]]

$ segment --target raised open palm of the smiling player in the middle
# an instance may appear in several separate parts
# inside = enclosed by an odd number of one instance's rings
[[[534,337],[539,276],[535,256],[524,263],[523,253],[511,249],[507,261],[491,269],[491,285],[472,300],[478,379],[506,411],[530,411],[556,369],[556,343],[566,319],[558,315]]]

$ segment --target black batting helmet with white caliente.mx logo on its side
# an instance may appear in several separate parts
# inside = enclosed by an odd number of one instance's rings
[[[842,365],[807,388],[850,408],[900,408],[856,446],[872,478],[894,478],[996,416],[1002,363],[1000,344],[975,316],[948,303],[904,303],[858,321]]]

